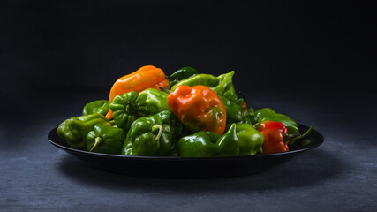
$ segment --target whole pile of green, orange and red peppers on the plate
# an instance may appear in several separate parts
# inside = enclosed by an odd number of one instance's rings
[[[84,106],[58,126],[69,147],[135,156],[236,156],[289,151],[306,133],[290,117],[253,110],[238,98],[235,72],[214,76],[183,67],[170,76],[147,65],[114,83],[109,100]]]

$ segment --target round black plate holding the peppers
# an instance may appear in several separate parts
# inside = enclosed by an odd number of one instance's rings
[[[298,125],[298,128],[300,132],[308,129],[305,125]],[[57,136],[57,127],[49,132],[48,138],[57,148],[96,169],[147,178],[228,178],[250,175],[269,170],[323,142],[323,136],[312,130],[305,140],[296,140],[290,151],[283,153],[227,157],[155,157],[109,155],[69,148]]]

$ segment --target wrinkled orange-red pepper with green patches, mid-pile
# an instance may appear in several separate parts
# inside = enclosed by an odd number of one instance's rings
[[[205,86],[178,86],[168,95],[170,110],[192,132],[225,131],[226,110],[222,100]]]

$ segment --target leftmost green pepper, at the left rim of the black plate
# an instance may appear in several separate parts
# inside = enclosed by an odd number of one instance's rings
[[[71,117],[57,127],[57,135],[65,140],[70,148],[87,150],[87,133],[94,125],[109,125],[109,120],[99,113],[87,116]]]

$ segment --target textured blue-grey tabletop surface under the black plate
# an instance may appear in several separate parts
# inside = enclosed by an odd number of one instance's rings
[[[324,143],[267,172],[195,180],[94,170],[49,144],[49,131],[102,91],[39,91],[28,108],[14,100],[17,112],[0,122],[0,211],[375,211],[377,95],[277,92],[247,96],[255,109],[314,123]]]

